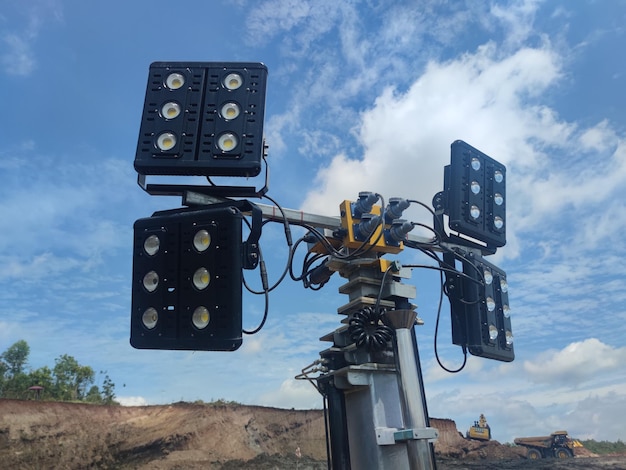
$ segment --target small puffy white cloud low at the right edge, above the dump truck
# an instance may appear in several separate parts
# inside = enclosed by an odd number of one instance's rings
[[[599,374],[621,370],[624,362],[626,347],[614,348],[589,338],[524,361],[524,370],[535,383],[577,386]]]

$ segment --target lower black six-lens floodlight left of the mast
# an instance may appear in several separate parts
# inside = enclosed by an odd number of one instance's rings
[[[241,345],[242,220],[239,210],[220,205],[135,222],[133,347],[234,351]]]

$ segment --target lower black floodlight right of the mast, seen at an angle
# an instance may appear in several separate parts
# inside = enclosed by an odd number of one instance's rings
[[[454,263],[454,254],[444,255],[444,260]],[[452,342],[474,356],[513,361],[506,273],[480,255],[469,253],[461,260],[464,276],[446,274]]]

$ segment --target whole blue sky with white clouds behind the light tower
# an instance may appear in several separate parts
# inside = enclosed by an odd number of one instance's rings
[[[336,216],[364,190],[430,203],[457,139],[507,166],[508,243],[492,259],[508,274],[516,359],[443,371],[439,277],[414,270],[430,415],[464,432],[484,413],[502,442],[626,439],[625,20],[619,0],[3,0],[0,350],[26,340],[33,368],[70,354],[128,404],[321,407],[293,377],[339,326],[339,278],[319,292],[284,282],[237,352],[128,342],[133,222],[180,205],[136,184],[148,66],[261,61],[268,194],[284,207]],[[261,241],[280,272],[280,229]],[[253,328],[262,299],[244,306]],[[447,305],[438,348],[460,364]]]

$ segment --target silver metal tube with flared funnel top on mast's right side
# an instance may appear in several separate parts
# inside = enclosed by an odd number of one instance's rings
[[[395,357],[399,376],[400,398],[403,404],[406,425],[409,428],[426,428],[428,416],[425,410],[423,384],[415,363],[415,349],[411,331],[417,314],[413,310],[392,310],[387,318],[396,330]],[[411,470],[432,470],[434,459],[427,440],[418,439],[407,442]]]

